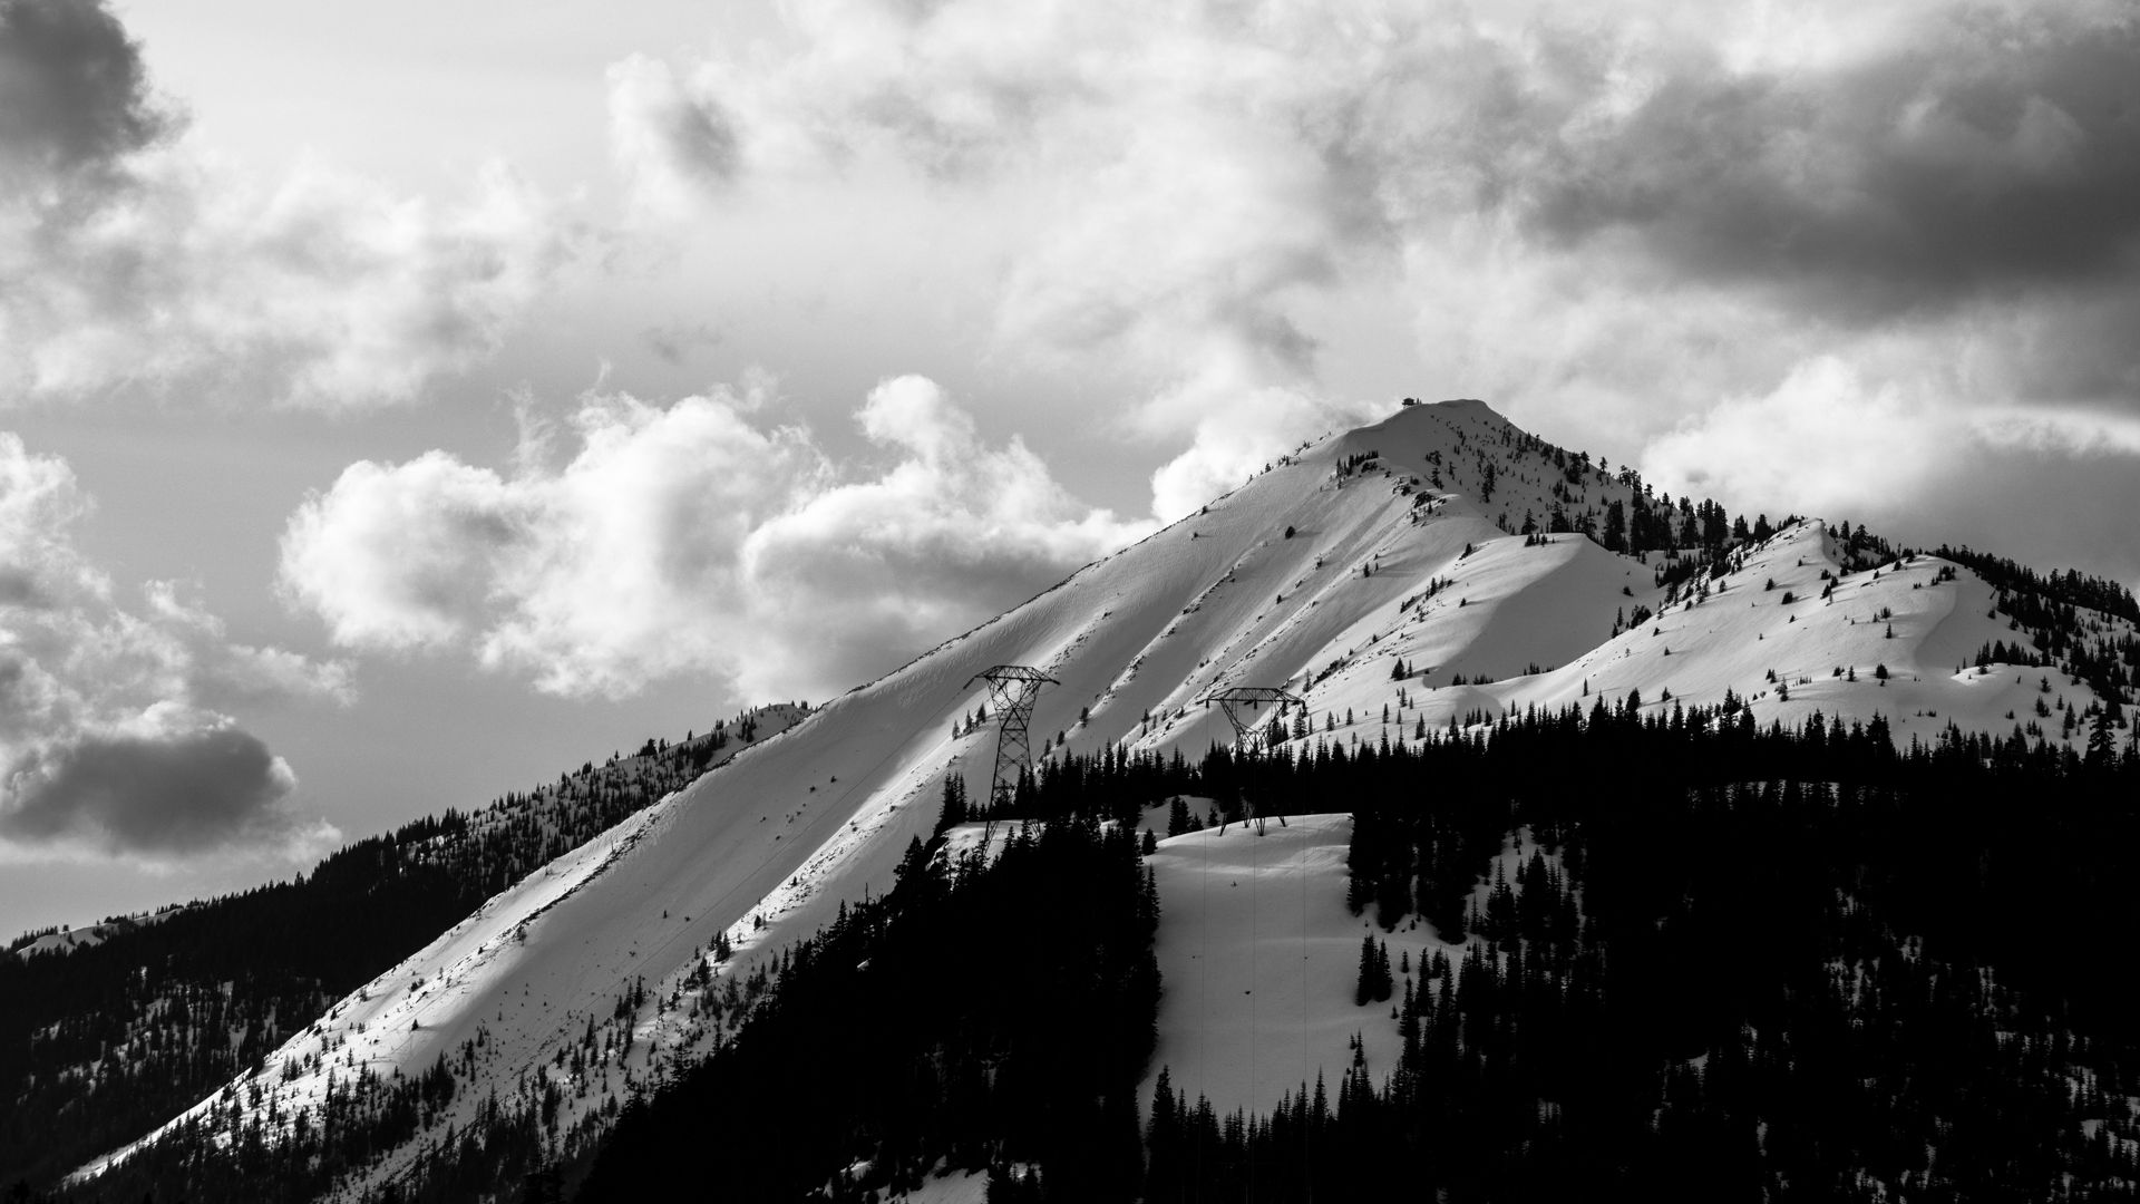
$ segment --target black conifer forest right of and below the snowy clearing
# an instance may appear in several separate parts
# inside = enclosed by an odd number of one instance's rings
[[[1310,758],[1367,791],[1355,902],[1472,943],[1363,949],[1400,1065],[1156,1103],[1149,1198],[2134,1198],[2140,754],[1883,746],[1592,711]]]

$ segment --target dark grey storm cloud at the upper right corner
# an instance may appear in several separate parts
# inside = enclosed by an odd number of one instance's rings
[[[1958,6],[1825,71],[1693,60],[1558,139],[1526,219],[1843,317],[2140,268],[2140,21]]]

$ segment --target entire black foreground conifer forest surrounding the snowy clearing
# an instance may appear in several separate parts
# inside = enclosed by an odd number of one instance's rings
[[[1355,906],[1466,943],[1391,966],[1370,930],[1359,1026],[1395,1026],[1397,1065],[1269,1116],[1166,1093],[1141,1168],[1156,900],[1098,821],[1183,795],[1222,823],[1355,812]],[[1425,746],[1059,756],[993,816],[1021,827],[993,868],[916,844],[792,949],[732,1041],[625,1108],[582,1198],[862,1200],[937,1165],[989,1168],[991,1200],[2131,1198],[2136,799],[2140,741],[1896,750],[1877,718],[1639,698]],[[360,1120],[422,1108],[381,1090]],[[552,1200],[591,1140],[501,1108],[398,1195]],[[327,1161],[259,1159],[253,1193]]]

